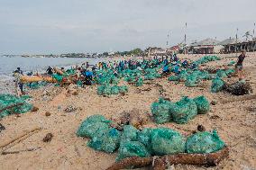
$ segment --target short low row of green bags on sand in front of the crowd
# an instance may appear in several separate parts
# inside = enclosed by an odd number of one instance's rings
[[[99,95],[112,95],[112,94],[124,94],[128,92],[126,85],[100,85],[97,87],[97,94]]]

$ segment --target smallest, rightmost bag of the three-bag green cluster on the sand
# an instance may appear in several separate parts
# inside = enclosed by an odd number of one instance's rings
[[[210,103],[204,95],[196,97],[194,102],[197,104],[198,114],[206,114],[210,111]]]

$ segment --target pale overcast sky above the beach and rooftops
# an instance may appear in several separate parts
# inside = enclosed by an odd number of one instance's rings
[[[237,28],[242,38],[255,8],[255,0],[0,0],[0,54],[165,48],[185,33],[188,43],[224,40]]]

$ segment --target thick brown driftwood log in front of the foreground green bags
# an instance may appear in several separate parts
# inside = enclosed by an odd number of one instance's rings
[[[216,166],[225,157],[228,157],[229,149],[227,147],[220,151],[210,154],[176,154],[163,157],[129,157],[125,158],[106,170],[119,170],[128,166],[142,167],[153,166],[154,170],[165,170],[167,165],[196,165],[196,166]],[[152,164],[153,163],[153,164]]]

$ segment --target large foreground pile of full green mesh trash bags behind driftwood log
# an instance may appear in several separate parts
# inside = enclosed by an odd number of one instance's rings
[[[89,138],[87,146],[95,150],[106,153],[117,150],[117,162],[126,157],[212,153],[225,146],[215,130],[213,133],[197,132],[186,139],[169,128],[137,130],[132,125],[125,125],[123,131],[119,131],[111,128],[110,123],[102,115],[90,116],[81,123],[77,135]]]

